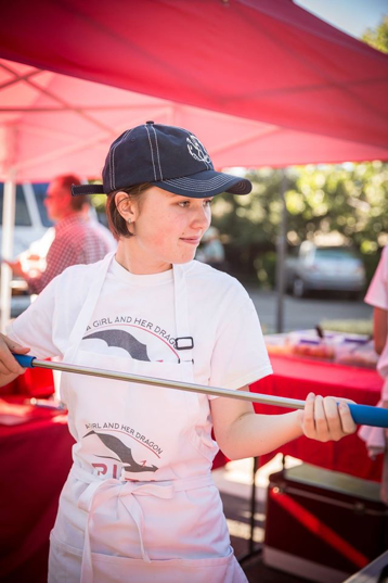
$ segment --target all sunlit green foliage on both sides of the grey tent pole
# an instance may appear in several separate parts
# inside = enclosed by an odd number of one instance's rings
[[[271,168],[249,172],[250,194],[223,194],[212,205],[212,224],[223,236],[232,271],[243,277],[256,275],[263,287],[274,283],[282,173]],[[371,279],[378,251],[388,243],[388,164],[288,168],[285,200],[290,246],[335,231],[345,244],[360,251]]]

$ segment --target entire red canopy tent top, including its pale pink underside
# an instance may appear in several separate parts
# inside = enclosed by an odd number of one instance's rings
[[[218,167],[388,157],[388,58],[292,0],[14,0],[0,56],[3,180],[95,176],[145,118],[192,129]]]

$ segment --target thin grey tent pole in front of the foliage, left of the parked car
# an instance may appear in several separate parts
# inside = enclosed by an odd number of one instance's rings
[[[286,168],[283,168],[281,172],[281,191],[280,200],[282,205],[282,217],[279,226],[279,233],[276,239],[276,292],[277,292],[277,304],[276,304],[276,332],[281,333],[284,331],[284,292],[285,292],[285,257],[286,257],[286,245],[287,245],[287,207],[285,193],[287,188],[287,176]]]

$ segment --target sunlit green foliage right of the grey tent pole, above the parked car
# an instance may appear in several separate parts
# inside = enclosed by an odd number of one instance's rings
[[[388,231],[388,165],[381,162],[300,167],[286,193],[288,230],[299,240],[337,231],[362,253],[375,253]],[[302,211],[295,211],[297,200]],[[302,221],[300,221],[300,218]]]

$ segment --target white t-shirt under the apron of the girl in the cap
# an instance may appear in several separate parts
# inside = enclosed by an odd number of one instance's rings
[[[10,327],[9,335],[38,358],[63,356],[100,262],[69,267]],[[255,306],[241,283],[193,261],[184,265],[194,378],[238,389],[272,368]],[[82,348],[177,363],[172,269],[137,276],[111,263]]]

